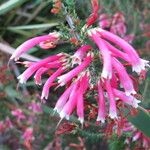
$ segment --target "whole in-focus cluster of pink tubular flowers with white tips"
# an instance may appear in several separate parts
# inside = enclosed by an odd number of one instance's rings
[[[94,13],[98,11],[96,2],[93,0]],[[87,24],[84,28],[90,25]],[[99,72],[97,77],[92,75],[90,69],[94,58],[97,58],[95,47],[83,44],[73,55],[59,53],[38,62],[24,62],[27,69],[18,77],[19,82],[26,83],[34,74],[35,83],[42,85],[42,75],[49,74],[43,86],[41,99],[48,99],[51,87],[65,86],[66,89],[58,99],[54,111],[59,113],[61,119],[69,119],[76,110],[81,124],[84,122],[85,95],[94,87],[98,93],[97,121],[104,123],[107,117],[118,119],[118,100],[133,108],[137,108],[140,103],[135,97],[137,90],[134,78],[127,72],[124,62],[132,67],[133,72],[140,74],[149,66],[148,61],[141,59],[136,50],[124,39],[100,27],[87,28],[85,36],[98,48],[98,57],[103,65],[102,72],[100,66],[99,70],[96,70]],[[57,46],[60,38],[58,32],[32,38],[20,45],[10,59],[18,60],[21,54],[35,45],[42,49],[53,48],[50,43]],[[94,85],[93,78],[96,79]]]

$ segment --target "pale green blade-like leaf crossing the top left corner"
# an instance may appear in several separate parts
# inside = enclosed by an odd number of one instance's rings
[[[27,0],[9,0],[0,6],[0,15],[7,13],[8,11],[18,7]]]

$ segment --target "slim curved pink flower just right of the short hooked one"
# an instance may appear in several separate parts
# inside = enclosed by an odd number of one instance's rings
[[[55,79],[64,72],[64,69],[59,68],[56,72],[54,72],[46,81],[46,83],[44,84],[43,90],[42,90],[42,95],[41,95],[41,99],[45,98],[48,99],[48,95],[49,95],[49,89],[50,87],[53,85],[53,82],[55,81]]]

